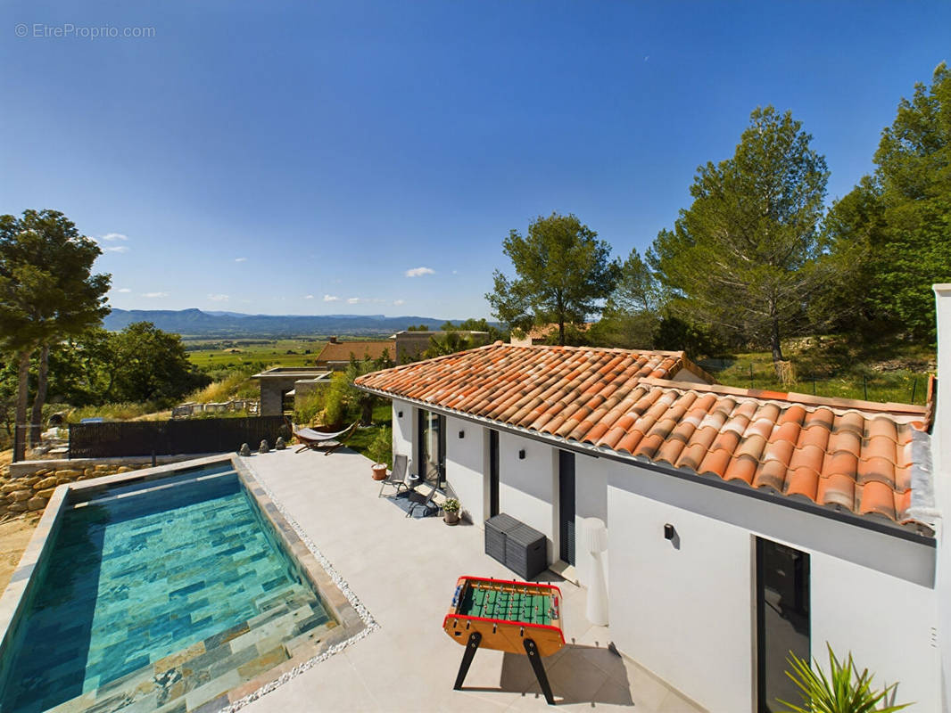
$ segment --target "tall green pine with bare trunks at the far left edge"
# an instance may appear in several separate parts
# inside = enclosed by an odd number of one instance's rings
[[[93,275],[102,254],[73,222],[55,210],[25,210],[0,216],[0,335],[5,351],[15,354],[18,388],[16,423],[27,420],[29,362],[40,350],[30,441],[36,442],[46,401],[50,345],[75,336],[108,314],[108,275]],[[18,442],[22,458],[26,444]]]

